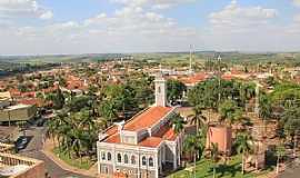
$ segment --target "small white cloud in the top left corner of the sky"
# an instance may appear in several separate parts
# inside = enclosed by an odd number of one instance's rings
[[[37,0],[0,0],[0,18],[36,17],[51,19],[52,11],[41,7]]]

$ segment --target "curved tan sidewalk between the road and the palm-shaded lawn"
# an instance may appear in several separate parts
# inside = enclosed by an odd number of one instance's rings
[[[89,176],[89,177],[99,177],[97,169],[94,168],[94,166],[92,166],[89,170],[86,169],[79,169],[79,168],[74,168],[68,164],[66,164],[64,161],[62,161],[61,159],[59,159],[53,152],[52,149],[54,148],[53,141],[50,139],[47,139],[44,141],[43,145],[43,149],[41,150],[49,159],[51,159],[53,162],[56,162],[59,167],[61,167],[62,169],[67,170],[67,171],[71,171],[74,174],[79,174],[82,176]]]

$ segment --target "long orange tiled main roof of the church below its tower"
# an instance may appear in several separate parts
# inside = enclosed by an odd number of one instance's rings
[[[141,115],[130,120],[124,126],[124,130],[137,131],[140,129],[149,128],[163,118],[172,110],[171,107],[151,107]]]

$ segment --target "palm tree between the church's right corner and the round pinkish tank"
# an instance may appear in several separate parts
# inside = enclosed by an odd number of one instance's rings
[[[196,178],[196,160],[197,160],[197,154],[203,152],[203,146],[197,136],[189,135],[184,139],[183,149],[189,152],[190,155],[193,155],[193,177]],[[199,158],[201,159],[201,155]]]

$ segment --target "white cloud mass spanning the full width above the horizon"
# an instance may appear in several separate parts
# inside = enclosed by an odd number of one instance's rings
[[[181,51],[191,43],[200,50],[300,49],[300,16],[282,26],[277,21],[281,13],[268,7],[244,7],[231,1],[209,14],[207,26],[196,28],[179,24],[177,19],[156,10],[189,0],[114,1],[123,6],[81,21],[13,27],[0,18],[0,39],[4,41],[0,42],[0,55]],[[41,18],[43,13],[30,14]]]

